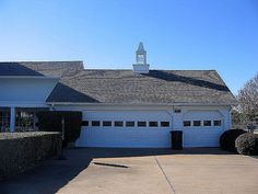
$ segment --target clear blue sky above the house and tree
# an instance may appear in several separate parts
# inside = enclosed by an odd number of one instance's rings
[[[0,0],[0,60],[216,69],[233,93],[258,72],[257,0]]]

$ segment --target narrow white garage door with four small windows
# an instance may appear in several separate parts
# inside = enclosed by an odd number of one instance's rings
[[[190,111],[183,116],[184,147],[218,147],[223,117],[218,111]]]

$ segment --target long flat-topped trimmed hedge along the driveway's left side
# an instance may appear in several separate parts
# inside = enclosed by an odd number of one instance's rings
[[[39,166],[60,150],[60,133],[0,133],[0,180]]]

